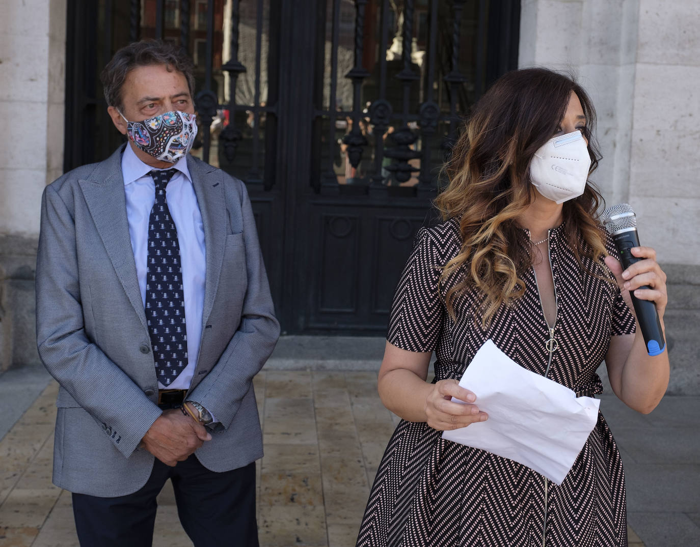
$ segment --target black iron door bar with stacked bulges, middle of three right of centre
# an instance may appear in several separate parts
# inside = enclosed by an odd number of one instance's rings
[[[403,108],[401,113],[402,127],[393,132],[388,138],[395,143],[395,146],[387,148],[385,155],[395,159],[391,165],[386,167],[387,171],[393,173],[393,178],[397,183],[405,183],[410,180],[414,171],[419,171],[414,166],[409,164],[409,159],[420,157],[414,150],[411,150],[411,145],[416,142],[418,135],[411,131],[408,127],[408,122],[411,119],[409,115],[409,99],[411,93],[411,84],[418,80],[419,76],[411,68],[411,49],[413,38],[413,0],[405,0],[404,15],[403,15],[403,41],[401,57],[403,60],[403,70],[396,75],[396,78],[403,83]]]

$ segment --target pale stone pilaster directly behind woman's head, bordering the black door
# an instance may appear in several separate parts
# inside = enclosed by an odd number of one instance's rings
[[[519,65],[573,73],[598,115],[603,161],[592,180],[608,203],[629,199],[638,0],[526,0]]]

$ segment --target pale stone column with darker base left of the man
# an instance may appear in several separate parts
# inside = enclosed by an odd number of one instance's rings
[[[0,371],[38,362],[41,192],[62,173],[66,0],[5,0],[0,17]]]

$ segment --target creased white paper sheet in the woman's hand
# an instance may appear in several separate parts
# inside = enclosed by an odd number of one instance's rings
[[[479,348],[459,385],[475,393],[475,404],[489,419],[442,437],[524,464],[557,485],[598,421],[598,399],[576,397],[520,367],[491,340]]]

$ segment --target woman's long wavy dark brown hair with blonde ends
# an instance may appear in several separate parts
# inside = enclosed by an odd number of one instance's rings
[[[506,73],[466,122],[444,168],[449,185],[435,200],[445,220],[458,222],[462,240],[459,254],[440,276],[441,285],[447,286],[447,278],[463,272],[445,296],[453,320],[455,299],[468,287],[483,295],[475,318],[481,316],[484,329],[500,306],[514,304],[524,294],[521,276],[533,255],[516,219],[535,197],[530,161],[557,132],[572,92],[586,116],[590,176],[601,158],[592,132],[596,113],[586,92],[568,76],[541,68]],[[602,201],[588,182],[580,197],[563,204],[566,239],[582,268],[582,257],[597,262],[607,254],[597,221]]]

